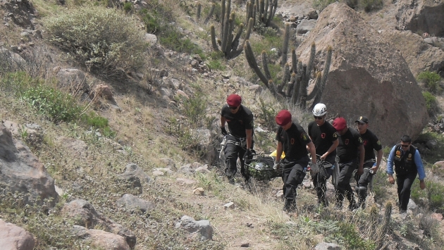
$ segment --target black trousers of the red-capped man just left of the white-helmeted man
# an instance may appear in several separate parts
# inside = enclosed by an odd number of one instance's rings
[[[283,160],[281,168],[283,169],[282,181],[285,205],[295,205],[297,194],[296,189],[298,185],[302,184],[302,181],[307,174],[305,170],[307,169],[308,161],[308,156],[300,158],[297,161]]]

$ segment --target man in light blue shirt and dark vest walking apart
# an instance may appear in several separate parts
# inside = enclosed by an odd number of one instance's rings
[[[419,175],[419,187],[421,189],[426,188],[426,182],[424,182],[426,173],[424,172],[421,156],[417,148],[412,145],[412,139],[408,135],[403,135],[401,143],[393,146],[388,155],[386,172],[388,173],[388,182],[390,184],[395,184],[393,165],[395,165],[400,213],[406,213],[411,188],[417,175]]]

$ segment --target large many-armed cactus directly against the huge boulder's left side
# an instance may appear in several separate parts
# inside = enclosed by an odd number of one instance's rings
[[[262,8],[263,6],[260,6]],[[285,25],[285,33],[288,34],[288,27],[289,24]],[[268,66],[268,59],[265,51],[262,51],[261,57],[262,57],[262,65],[264,68],[264,73],[262,73],[261,69],[257,65],[257,61],[255,59],[255,56],[251,49],[251,44],[247,41],[245,44],[245,56],[247,58],[248,64],[250,68],[254,70],[254,72],[257,74],[261,82],[264,83],[264,85],[270,89],[270,91],[275,95],[276,97],[285,97],[290,99],[292,104],[297,104],[301,108],[306,108],[307,101],[314,99],[313,105],[316,104],[321,100],[321,96],[323,93],[323,89],[325,88],[328,72],[330,71],[330,65],[331,65],[331,56],[333,54],[333,48],[331,46],[328,46],[327,53],[326,53],[326,61],[324,63],[324,69],[323,72],[318,73],[312,73],[313,71],[313,65],[314,65],[314,56],[316,55],[316,44],[312,44],[312,47],[310,49],[310,58],[309,58],[309,64],[304,65],[302,62],[297,61],[297,56],[295,53],[295,50],[292,49],[292,66],[290,71],[290,65],[289,63],[286,63],[287,58],[287,47],[288,47],[288,39],[289,35],[284,35],[284,42],[283,42],[283,55],[280,61],[280,64],[283,65],[283,82],[281,82],[280,85],[270,85],[271,81],[271,74],[269,72],[269,66]],[[285,63],[283,63],[285,62]],[[282,64],[283,63],[283,64]],[[315,77],[315,85],[312,89],[312,92],[308,93],[308,85],[309,81],[312,78],[312,76]],[[284,90],[285,86],[288,86],[286,91]]]

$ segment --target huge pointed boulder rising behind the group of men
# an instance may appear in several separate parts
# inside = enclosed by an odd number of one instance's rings
[[[325,8],[297,49],[302,63],[309,61],[313,42],[316,68],[326,58],[328,46],[333,47],[321,96],[331,115],[351,123],[366,115],[385,145],[395,144],[405,134],[419,135],[428,119],[421,89],[402,55],[356,11],[338,2]]]

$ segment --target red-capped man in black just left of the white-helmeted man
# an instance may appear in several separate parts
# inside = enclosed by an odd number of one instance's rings
[[[276,123],[280,126],[276,134],[278,146],[276,149],[276,163],[273,168],[283,169],[283,194],[285,199],[284,211],[296,208],[296,189],[306,175],[309,163],[307,146],[310,154],[316,154],[316,149],[305,130],[297,123],[292,123],[291,113],[282,110],[276,115]],[[285,158],[280,163],[280,155]],[[316,157],[312,158],[312,167],[316,166]]]

